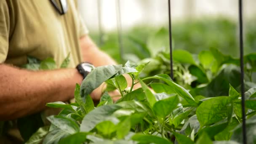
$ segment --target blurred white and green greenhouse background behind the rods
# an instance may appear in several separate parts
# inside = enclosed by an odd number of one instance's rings
[[[120,8],[123,61],[138,62],[155,50],[168,51],[168,0],[78,0],[80,13],[99,47],[120,58],[117,21]],[[256,1],[244,0],[245,54],[256,51]],[[199,53],[217,48],[239,56],[237,0],[171,0],[174,49]]]

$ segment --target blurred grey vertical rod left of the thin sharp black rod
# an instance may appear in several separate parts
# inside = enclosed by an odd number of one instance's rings
[[[120,60],[121,60],[121,64],[123,64],[123,40],[122,40],[120,0],[116,0],[116,13],[117,13],[117,35],[118,35],[118,43],[120,48]]]

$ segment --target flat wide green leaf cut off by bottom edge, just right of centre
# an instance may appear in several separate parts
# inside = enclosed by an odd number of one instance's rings
[[[145,135],[141,133],[137,133],[132,137],[133,141],[139,141],[142,144],[172,144],[171,141],[167,139],[160,138],[158,136],[153,135]]]

